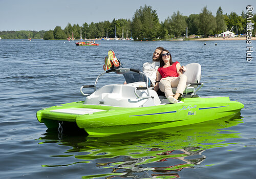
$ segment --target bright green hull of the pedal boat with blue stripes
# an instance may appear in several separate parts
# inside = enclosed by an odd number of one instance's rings
[[[229,97],[183,98],[183,103],[148,107],[115,107],[67,103],[37,111],[37,119],[48,128],[57,128],[58,121],[73,123],[89,135],[177,127],[232,116],[244,105]]]

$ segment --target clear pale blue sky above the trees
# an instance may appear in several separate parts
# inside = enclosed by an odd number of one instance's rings
[[[53,30],[71,25],[115,19],[131,19],[144,5],[157,11],[160,21],[174,12],[182,15],[199,14],[203,7],[216,15],[219,7],[223,14],[247,12],[247,5],[254,7],[255,0],[0,0],[0,31]]]

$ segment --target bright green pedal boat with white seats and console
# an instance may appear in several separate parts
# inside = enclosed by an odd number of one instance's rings
[[[78,126],[89,135],[102,136],[116,133],[152,130],[168,127],[190,125],[223,117],[233,116],[240,112],[244,105],[230,101],[229,97],[199,97],[201,65],[186,65],[187,87],[179,102],[170,104],[165,96],[158,95],[153,87],[148,87],[148,78],[134,69],[111,69],[101,73],[94,85],[80,88],[86,96],[84,101],[52,106],[37,111],[36,117],[48,128],[63,130],[66,127]],[[139,73],[146,82],[129,84],[110,84],[96,88],[98,79],[103,74]],[[82,89],[94,87],[94,93],[84,94]],[[176,88],[173,88],[175,93]]]

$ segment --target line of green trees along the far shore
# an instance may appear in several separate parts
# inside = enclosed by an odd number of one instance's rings
[[[253,15],[252,23],[256,21],[256,14]],[[241,15],[235,12],[223,14],[222,8],[219,7],[216,15],[204,7],[200,14],[190,14],[184,16],[179,11],[168,16],[164,21],[159,21],[156,10],[151,6],[145,5],[140,7],[134,13],[132,20],[130,19],[113,19],[110,21],[101,21],[99,23],[84,23],[82,26],[71,25],[70,23],[61,29],[56,26],[54,30],[49,31],[3,31],[0,32],[2,38],[31,38],[44,39],[67,39],[72,37],[82,38],[102,38],[102,37],[133,37],[134,39],[168,39],[188,35],[202,35],[207,37],[210,35],[220,34],[226,29],[231,30],[235,34],[246,33],[247,15],[242,11]],[[253,35],[255,29],[253,29]]]

